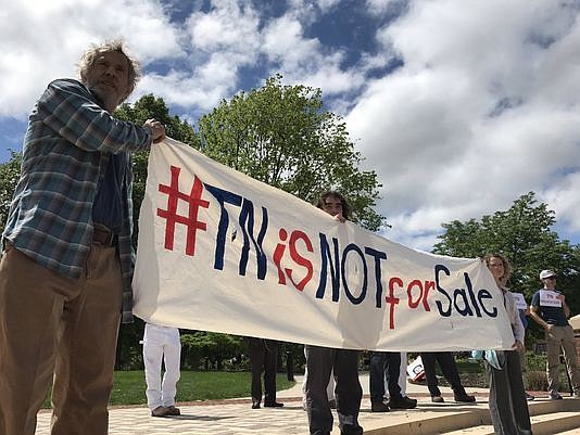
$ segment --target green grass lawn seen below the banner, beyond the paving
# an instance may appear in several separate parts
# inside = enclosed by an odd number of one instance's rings
[[[181,371],[177,384],[176,401],[228,399],[250,397],[250,372],[193,372]],[[286,374],[278,373],[277,389],[287,389],[294,385]],[[144,405],[146,382],[143,371],[117,371],[111,394],[111,405]],[[50,397],[50,395],[49,395]],[[50,398],[42,408],[50,408]]]

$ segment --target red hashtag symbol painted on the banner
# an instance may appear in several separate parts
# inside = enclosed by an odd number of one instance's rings
[[[198,230],[206,230],[206,223],[198,220],[198,212],[200,207],[207,208],[210,202],[201,199],[203,183],[197,176],[193,179],[191,193],[187,194],[179,191],[179,172],[181,171],[181,168],[172,166],[171,171],[171,185],[159,184],[159,191],[167,194],[167,209],[164,210],[157,208],[157,216],[166,219],[165,248],[173,251],[176,223],[185,225],[187,227],[186,255],[193,256],[196,254],[196,233]],[[179,201],[185,201],[189,204],[187,216],[177,214],[177,204]]]

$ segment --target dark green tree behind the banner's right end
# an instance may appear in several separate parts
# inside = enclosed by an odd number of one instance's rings
[[[559,240],[551,228],[555,213],[538,203],[533,192],[516,200],[509,209],[465,222],[443,223],[433,253],[454,257],[480,257],[486,253],[506,256],[513,267],[508,285],[526,295],[529,303],[540,289],[539,273],[553,269],[558,273],[558,289],[572,312],[580,310],[580,246]]]

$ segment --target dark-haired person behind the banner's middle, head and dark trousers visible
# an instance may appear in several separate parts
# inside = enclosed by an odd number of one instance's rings
[[[349,204],[333,191],[324,193],[318,200],[321,208],[340,222],[349,218]],[[335,372],[335,397],[342,435],[360,435],[358,411],[363,388],[358,382],[358,350],[332,349],[319,346],[305,346],[306,370],[306,412],[310,433],[329,435],[332,432],[332,412],[326,392],[330,373]]]

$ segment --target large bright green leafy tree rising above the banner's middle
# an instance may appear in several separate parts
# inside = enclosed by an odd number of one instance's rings
[[[358,168],[363,157],[342,119],[323,110],[319,89],[282,86],[277,75],[222,101],[198,127],[205,155],[310,203],[336,189],[349,199],[354,221],[370,230],[381,225],[373,209],[377,176]]]

